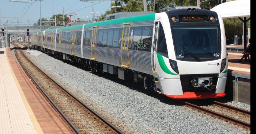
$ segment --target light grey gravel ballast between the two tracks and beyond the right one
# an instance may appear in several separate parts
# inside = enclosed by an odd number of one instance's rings
[[[46,54],[26,55],[125,133],[250,133],[248,129],[179,105],[164,95],[125,86]],[[242,103],[227,104],[250,109]]]

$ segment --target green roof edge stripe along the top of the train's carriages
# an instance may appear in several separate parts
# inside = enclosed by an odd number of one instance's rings
[[[120,19],[113,19],[113,20],[98,21],[98,22],[94,22],[94,23],[85,24],[84,27],[94,27],[94,26],[101,26],[101,25],[112,25],[112,24],[129,23],[129,22],[137,22],[137,21],[148,21],[148,20],[155,20],[155,13],[120,18]],[[65,31],[65,30],[70,30],[70,29],[81,29],[81,28],[83,28],[83,25],[73,25],[73,26],[69,26],[69,27],[58,28],[57,31],[61,31],[61,30]],[[55,30],[56,29],[49,29],[49,30],[46,30],[46,32],[52,32]],[[42,31],[40,31],[38,33],[41,33],[41,32]]]

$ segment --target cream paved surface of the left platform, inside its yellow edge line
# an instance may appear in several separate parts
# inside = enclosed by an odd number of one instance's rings
[[[0,134],[36,134],[12,75],[6,49],[0,51]]]

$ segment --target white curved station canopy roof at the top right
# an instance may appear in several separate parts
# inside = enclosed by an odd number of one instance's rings
[[[250,0],[234,0],[219,4],[211,9],[225,18],[249,17],[251,16]]]

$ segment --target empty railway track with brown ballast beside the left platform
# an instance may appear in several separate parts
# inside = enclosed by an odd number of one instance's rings
[[[15,43],[13,44],[17,47]],[[123,134],[123,131],[57,82],[54,82],[53,79],[26,58],[21,50],[15,50],[15,55],[33,82],[50,100],[75,133]]]

